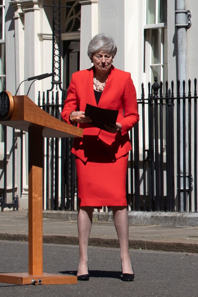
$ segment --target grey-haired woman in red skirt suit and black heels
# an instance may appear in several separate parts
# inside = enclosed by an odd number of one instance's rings
[[[79,196],[78,280],[89,280],[87,252],[93,210],[102,206],[113,211],[120,243],[122,280],[134,279],[128,248],[126,173],[131,150],[128,132],[139,121],[139,114],[130,73],[112,65],[116,51],[112,37],[101,33],[92,38],[88,56],[93,67],[72,75],[62,110],[66,123],[78,123],[78,127],[84,129],[83,137],[75,138],[72,148]],[[105,125],[106,131],[93,127],[90,124],[92,119],[84,114],[87,103],[118,110],[117,123]],[[80,111],[76,111],[78,109]]]

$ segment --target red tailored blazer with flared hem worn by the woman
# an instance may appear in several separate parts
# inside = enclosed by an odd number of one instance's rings
[[[110,132],[80,123],[78,127],[84,129],[83,137],[75,138],[72,153],[83,161],[87,161],[93,144],[100,139],[111,161],[115,161],[131,150],[129,133],[139,121],[137,112],[136,90],[128,72],[111,67],[104,91],[97,105],[93,91],[93,67],[75,72],[71,77],[67,98],[62,110],[62,119],[70,124],[69,117],[72,110],[84,111],[86,103],[101,108],[119,110],[117,122],[121,123],[122,131]],[[97,158],[97,156],[96,156]]]

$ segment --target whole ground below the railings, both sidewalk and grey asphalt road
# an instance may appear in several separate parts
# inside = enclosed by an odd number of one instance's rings
[[[53,214],[53,213],[51,213]],[[53,218],[52,218],[53,217]],[[43,271],[76,275],[79,258],[76,213],[43,213]],[[2,297],[192,297],[198,296],[198,227],[129,224],[133,282],[121,280],[113,222],[94,216],[88,248],[90,279],[67,285],[0,283]],[[28,271],[28,212],[0,213],[0,273]]]

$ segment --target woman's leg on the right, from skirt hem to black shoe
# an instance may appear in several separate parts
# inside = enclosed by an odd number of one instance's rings
[[[112,206],[115,229],[120,243],[123,273],[133,273],[129,255],[129,221],[126,206]]]

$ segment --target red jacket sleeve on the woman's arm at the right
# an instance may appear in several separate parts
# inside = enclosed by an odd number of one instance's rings
[[[136,89],[134,87],[130,73],[128,73],[128,77],[126,79],[123,108],[124,118],[120,121],[120,124],[122,125],[122,135],[130,131],[140,119],[137,110]]]

